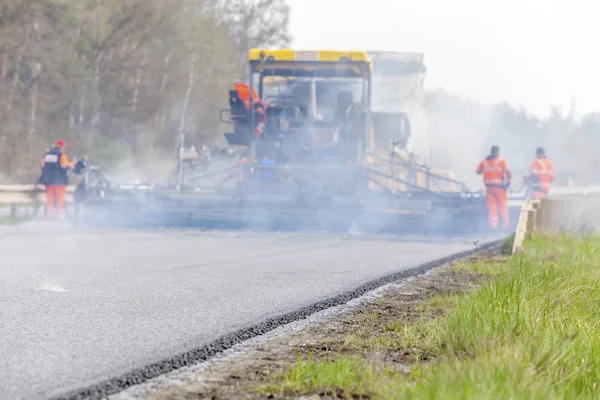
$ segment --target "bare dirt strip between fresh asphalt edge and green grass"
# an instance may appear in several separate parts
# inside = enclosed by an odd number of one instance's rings
[[[502,262],[499,250],[488,251],[463,260]],[[452,265],[431,270],[425,275],[405,281],[383,292],[372,301],[339,314],[309,328],[280,336],[247,352],[220,361],[203,373],[173,383],[139,398],[147,400],[179,399],[275,399],[274,394],[253,388],[272,383],[281,372],[296,364],[298,357],[312,360],[357,355],[382,368],[408,373],[416,362],[427,361],[422,349],[406,348],[386,341],[394,329],[430,319],[451,307],[444,294],[467,293],[480,284],[483,275]],[[441,296],[440,296],[441,295]],[[296,399],[352,398],[344,393],[315,393],[312,396],[285,397]]]

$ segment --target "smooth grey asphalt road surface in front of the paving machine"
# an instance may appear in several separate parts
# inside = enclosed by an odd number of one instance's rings
[[[0,227],[0,398],[112,378],[492,239]]]

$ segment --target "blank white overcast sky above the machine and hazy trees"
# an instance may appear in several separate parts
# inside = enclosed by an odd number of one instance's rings
[[[425,53],[430,88],[600,111],[600,2],[289,0],[294,48]],[[593,24],[595,22],[595,24]]]

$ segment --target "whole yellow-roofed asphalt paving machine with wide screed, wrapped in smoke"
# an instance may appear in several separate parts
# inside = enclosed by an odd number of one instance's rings
[[[382,98],[381,79],[398,73],[393,63],[381,65],[374,86],[364,51],[250,50],[247,84],[256,94],[245,103],[231,90],[230,107],[220,115],[232,128],[224,136],[237,162],[188,168],[177,185],[154,186],[145,198],[155,209],[214,226],[481,226],[483,199],[433,174],[410,152],[411,115],[373,109],[374,89]],[[264,126],[257,134],[258,124]]]

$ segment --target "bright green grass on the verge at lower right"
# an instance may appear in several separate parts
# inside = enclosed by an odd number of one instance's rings
[[[467,268],[461,265],[460,268]],[[431,356],[408,376],[363,358],[298,363],[263,390],[343,390],[377,399],[600,399],[600,238],[537,238],[452,309],[389,324],[396,343]]]

